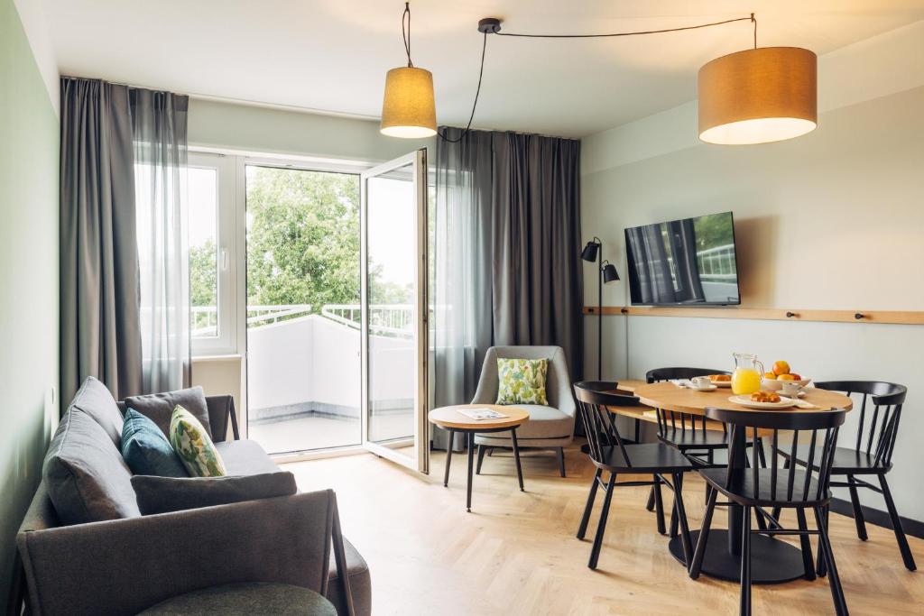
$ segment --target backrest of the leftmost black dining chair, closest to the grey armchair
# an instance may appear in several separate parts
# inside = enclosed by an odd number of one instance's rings
[[[625,393],[616,393],[619,383],[606,380],[582,380],[574,384],[577,405],[580,407],[580,417],[584,422],[584,432],[587,434],[590,446],[590,459],[597,464],[603,464],[603,448],[618,446],[631,466],[632,461],[626,452],[619,430],[613,415],[606,410],[606,406],[639,406],[638,398]]]

